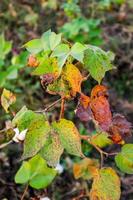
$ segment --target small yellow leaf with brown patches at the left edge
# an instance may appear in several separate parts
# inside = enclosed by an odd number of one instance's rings
[[[16,101],[16,97],[15,95],[7,90],[7,89],[3,89],[2,95],[1,95],[1,105],[4,108],[4,110],[6,111],[6,113],[9,112],[9,107],[14,104]]]

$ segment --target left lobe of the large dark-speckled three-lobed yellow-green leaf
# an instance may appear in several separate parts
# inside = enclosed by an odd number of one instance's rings
[[[50,126],[45,121],[44,115],[36,114],[34,120],[28,126],[26,138],[24,140],[23,159],[34,156],[46,143]]]

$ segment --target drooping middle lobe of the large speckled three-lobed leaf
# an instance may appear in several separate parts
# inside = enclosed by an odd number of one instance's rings
[[[48,165],[55,167],[59,163],[63,150],[64,149],[59,140],[59,136],[54,132],[54,130],[52,130],[46,144],[41,149],[40,153],[42,157],[47,161]]]

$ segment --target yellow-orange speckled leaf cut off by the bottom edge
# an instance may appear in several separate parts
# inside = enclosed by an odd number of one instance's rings
[[[112,168],[102,168],[95,176],[90,200],[119,200],[120,180]]]

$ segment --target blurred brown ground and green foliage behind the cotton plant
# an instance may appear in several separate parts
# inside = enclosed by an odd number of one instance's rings
[[[48,29],[62,33],[72,43],[89,43],[115,53],[116,69],[106,74],[103,83],[109,88],[112,111],[124,114],[133,123],[133,0],[0,0],[0,93],[6,88],[16,94],[15,111],[23,105],[37,110],[57,99],[45,93],[38,78],[30,76],[28,53],[22,48]],[[95,84],[91,78],[86,81],[84,93],[89,94]],[[66,105],[65,116],[84,132],[74,114],[76,103]],[[49,112],[51,120],[56,118],[59,105],[56,108]],[[0,107],[0,129],[9,120],[11,116]],[[87,156],[92,155],[91,146],[84,144],[83,148]],[[15,144],[0,151],[0,199],[21,197],[24,188],[13,180],[21,152],[21,146]],[[63,155],[64,172],[47,190],[30,188],[26,199],[88,199],[84,194],[90,183],[74,180],[72,174],[76,159]],[[113,159],[106,162],[113,166]],[[133,200],[133,177],[121,177],[121,200]]]

